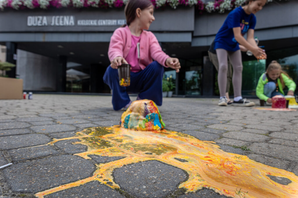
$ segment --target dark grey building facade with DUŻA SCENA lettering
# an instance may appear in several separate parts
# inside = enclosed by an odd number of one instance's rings
[[[297,82],[297,8],[298,1],[279,1],[257,12],[255,36],[268,59],[258,62],[243,53],[243,95],[255,95],[257,80],[272,60]],[[194,6],[155,10],[149,30],[164,52],[181,62],[177,74],[165,68],[166,77],[176,84],[174,94],[218,94],[207,50],[227,14],[201,14]],[[124,23],[123,8],[4,9],[0,44],[6,45],[6,60],[17,65],[8,73],[22,78],[27,91],[110,93],[102,80],[109,65],[108,45],[113,31]]]

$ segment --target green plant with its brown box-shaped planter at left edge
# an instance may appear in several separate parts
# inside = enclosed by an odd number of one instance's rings
[[[6,71],[10,71],[15,64],[0,62],[0,99],[22,99],[23,80],[8,78]]]

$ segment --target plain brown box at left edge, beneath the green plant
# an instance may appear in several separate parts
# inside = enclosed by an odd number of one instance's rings
[[[22,99],[23,79],[0,77],[0,99]]]

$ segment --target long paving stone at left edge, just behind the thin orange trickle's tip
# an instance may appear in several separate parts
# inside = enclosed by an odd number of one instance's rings
[[[0,149],[10,150],[29,146],[43,145],[51,139],[44,134],[25,134],[0,137]]]

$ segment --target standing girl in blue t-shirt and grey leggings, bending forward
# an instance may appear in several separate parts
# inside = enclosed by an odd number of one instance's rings
[[[260,11],[267,0],[248,0],[245,6],[235,8],[229,13],[224,24],[215,36],[214,49],[216,50],[219,68],[218,68],[218,88],[220,93],[219,106],[227,106],[226,80],[228,69],[228,56],[233,66],[233,89],[234,102],[236,106],[253,106],[250,102],[241,96],[242,86],[242,57],[239,44],[252,51],[257,58],[267,57],[265,50],[257,46],[254,40],[254,26],[256,25],[255,13]],[[247,32],[247,40],[243,35]]]

